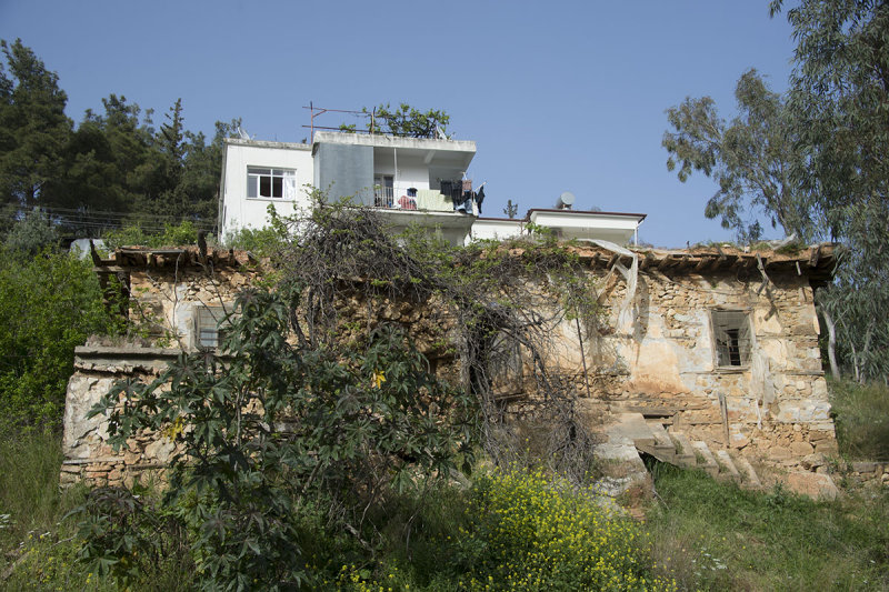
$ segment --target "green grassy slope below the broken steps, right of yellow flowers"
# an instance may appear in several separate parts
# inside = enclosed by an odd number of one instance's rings
[[[658,464],[653,555],[686,590],[886,590],[889,495],[813,502]]]

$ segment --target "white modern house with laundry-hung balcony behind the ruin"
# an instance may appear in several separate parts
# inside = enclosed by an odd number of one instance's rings
[[[219,234],[268,223],[273,205],[287,215],[310,207],[310,187],[328,199],[349,198],[378,208],[398,232],[411,224],[434,229],[453,244],[506,239],[530,222],[562,239],[636,238],[645,214],[531,209],[525,220],[477,218],[466,179],[476,142],[317,132],[311,146],[228,139],[222,160]]]

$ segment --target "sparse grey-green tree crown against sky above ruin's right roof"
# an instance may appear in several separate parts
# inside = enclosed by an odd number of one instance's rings
[[[710,97],[686,98],[667,110],[673,129],[663,134],[667,168],[678,167],[683,182],[695,171],[712,178],[719,189],[705,215],[721,218],[722,227],[743,242],[760,238],[762,215],[772,228],[809,238],[808,197],[790,175],[799,155],[785,101],[752,69],[738,80],[735,97],[739,114],[731,121],[719,117]]]

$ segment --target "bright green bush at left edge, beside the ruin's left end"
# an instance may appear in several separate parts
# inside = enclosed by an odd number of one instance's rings
[[[0,432],[58,427],[74,348],[116,322],[87,261],[49,250],[0,254]]]

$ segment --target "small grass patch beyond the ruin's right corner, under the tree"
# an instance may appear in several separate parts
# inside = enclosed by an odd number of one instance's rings
[[[889,388],[832,380],[829,390],[842,455],[848,460],[889,461]]]

